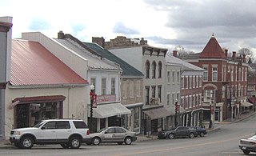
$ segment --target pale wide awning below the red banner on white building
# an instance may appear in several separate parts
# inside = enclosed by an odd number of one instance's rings
[[[122,114],[130,114],[130,110],[128,110],[125,106],[121,103],[108,103],[97,105],[97,108],[93,110],[93,117],[94,118],[108,118],[113,117],[115,115],[122,115]]]

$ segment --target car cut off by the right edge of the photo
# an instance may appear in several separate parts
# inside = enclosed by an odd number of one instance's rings
[[[239,148],[246,155],[250,154],[250,152],[256,152],[256,135],[250,138],[242,138],[239,143]]]

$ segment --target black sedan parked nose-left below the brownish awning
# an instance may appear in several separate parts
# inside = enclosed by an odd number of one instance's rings
[[[194,128],[188,126],[178,126],[172,130],[158,132],[158,138],[194,138],[197,136],[197,131]]]

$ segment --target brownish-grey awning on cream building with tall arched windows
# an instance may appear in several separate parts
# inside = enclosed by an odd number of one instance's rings
[[[157,118],[164,118],[172,115],[164,107],[158,107],[150,110],[143,110],[143,113],[146,114],[151,120],[154,120]]]

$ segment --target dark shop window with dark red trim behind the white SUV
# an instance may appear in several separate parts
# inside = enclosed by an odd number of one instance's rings
[[[63,118],[62,95],[15,98],[10,106],[14,108],[14,128],[34,126],[44,119]]]

